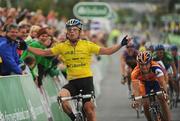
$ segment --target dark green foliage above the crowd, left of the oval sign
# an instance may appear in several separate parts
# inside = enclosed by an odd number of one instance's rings
[[[12,7],[26,8],[30,11],[41,9],[47,15],[50,10],[55,10],[59,16],[73,18],[73,6],[81,1],[88,0],[9,0]],[[6,0],[0,0],[1,7],[7,7]]]

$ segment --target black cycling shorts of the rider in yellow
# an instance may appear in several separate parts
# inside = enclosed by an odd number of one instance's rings
[[[71,96],[78,95],[80,90],[82,90],[83,95],[92,94],[92,92],[94,92],[93,77],[70,80],[63,88],[69,90]],[[91,99],[84,99],[83,102],[85,103],[90,100]]]

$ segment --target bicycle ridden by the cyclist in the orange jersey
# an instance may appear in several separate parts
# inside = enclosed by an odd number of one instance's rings
[[[150,102],[149,112],[151,114],[152,121],[165,121],[162,111],[161,111],[161,108],[160,108],[160,105],[159,105],[159,102],[157,101],[157,96],[164,95],[164,94],[165,94],[164,91],[158,91],[158,92],[152,91],[150,94],[134,97],[134,101],[148,98],[149,102]]]

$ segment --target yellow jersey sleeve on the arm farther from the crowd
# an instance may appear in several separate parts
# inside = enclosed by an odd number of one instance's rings
[[[91,41],[88,41],[88,46],[89,46],[90,53],[99,54],[99,51],[101,48],[99,45],[97,45]]]

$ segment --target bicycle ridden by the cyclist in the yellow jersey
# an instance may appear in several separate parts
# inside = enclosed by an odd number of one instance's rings
[[[88,99],[92,98],[93,102],[95,100],[94,93],[92,92],[91,94],[86,94],[82,95],[82,90],[80,90],[80,93],[75,96],[68,96],[68,97],[59,97],[57,98],[58,103],[61,104],[62,101],[74,101],[75,103],[75,116],[76,116],[76,121],[87,121],[85,112],[83,110],[83,99]]]

